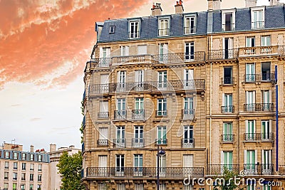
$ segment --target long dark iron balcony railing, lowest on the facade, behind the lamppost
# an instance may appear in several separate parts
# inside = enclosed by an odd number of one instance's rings
[[[157,178],[156,167],[88,167],[87,177],[98,178],[133,178],[148,177]],[[185,179],[185,177],[203,177],[203,167],[162,167],[160,168],[160,178]]]

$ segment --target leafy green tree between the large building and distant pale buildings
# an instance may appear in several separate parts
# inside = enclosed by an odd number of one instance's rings
[[[68,155],[68,152],[63,152],[56,166],[58,167],[59,173],[62,175],[62,189],[84,189],[83,185],[81,184],[81,152],[73,155]]]

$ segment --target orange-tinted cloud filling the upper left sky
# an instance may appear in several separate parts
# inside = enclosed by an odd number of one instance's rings
[[[83,74],[95,21],[128,17],[143,1],[0,0],[0,87],[66,85]]]

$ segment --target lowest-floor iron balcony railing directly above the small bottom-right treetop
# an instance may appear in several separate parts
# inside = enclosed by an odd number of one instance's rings
[[[225,170],[233,171],[235,174],[239,174],[239,164],[210,164],[207,167],[208,175],[222,175]]]

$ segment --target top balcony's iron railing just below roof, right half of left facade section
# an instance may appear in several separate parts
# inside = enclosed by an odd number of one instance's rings
[[[153,55],[153,60],[162,63],[184,63],[189,61],[204,61],[204,51],[196,51],[193,53],[165,53]]]

